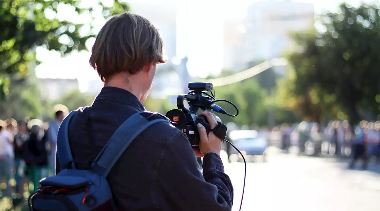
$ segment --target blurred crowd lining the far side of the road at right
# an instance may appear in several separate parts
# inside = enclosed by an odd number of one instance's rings
[[[380,121],[363,120],[352,126],[348,121],[331,121],[326,127],[313,122],[282,124],[272,130],[270,139],[285,151],[297,146],[299,153],[351,157],[351,167],[358,158],[363,158],[364,168],[372,157],[380,160]]]

